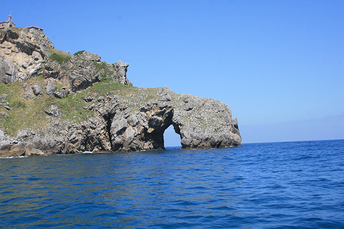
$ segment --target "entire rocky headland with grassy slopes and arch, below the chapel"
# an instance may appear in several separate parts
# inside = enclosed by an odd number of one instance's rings
[[[164,149],[173,125],[183,149],[240,146],[228,105],[133,87],[128,64],[54,49],[37,30],[0,32],[0,156]]]

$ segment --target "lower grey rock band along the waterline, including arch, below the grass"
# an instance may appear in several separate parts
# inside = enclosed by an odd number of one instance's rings
[[[52,119],[39,131],[20,131],[13,142],[29,143],[48,154],[161,150],[163,133],[173,125],[182,149],[240,146],[237,119],[218,100],[177,95],[167,87],[138,87],[126,96],[88,95],[84,103],[95,118],[81,123]],[[46,113],[61,117],[55,105]]]

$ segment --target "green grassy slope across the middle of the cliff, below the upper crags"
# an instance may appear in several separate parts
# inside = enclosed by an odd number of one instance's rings
[[[27,84],[23,88],[24,83]],[[85,89],[79,93],[68,95],[64,99],[55,98],[53,95],[45,94],[45,89],[42,88],[42,95],[35,96],[30,89],[34,84],[47,86],[46,81],[42,76],[35,76],[25,82],[18,81],[15,83],[4,84],[0,82],[0,95],[6,94],[8,99],[5,103],[0,105],[0,111],[5,112],[9,117],[0,115],[0,128],[11,135],[16,136],[20,129],[39,129],[46,126],[51,120],[56,119],[48,116],[44,110],[50,105],[54,104],[60,108],[63,116],[62,119],[68,119],[71,122],[82,122],[94,117],[94,113],[89,109],[84,109],[90,106],[91,103],[86,103],[82,98],[91,95],[98,99],[103,96],[118,95],[128,98],[128,102],[132,102],[133,98],[137,102],[146,102],[156,95],[153,88],[148,88],[142,93],[138,87],[123,85],[118,82],[111,82],[104,80],[95,83],[93,86]],[[62,84],[61,84],[62,85]],[[55,83],[56,88],[61,87],[59,83]],[[31,93],[31,95],[28,95]],[[32,97],[26,99],[24,97]],[[11,110],[6,110],[4,106],[9,103]],[[97,104],[98,102],[95,101]]]

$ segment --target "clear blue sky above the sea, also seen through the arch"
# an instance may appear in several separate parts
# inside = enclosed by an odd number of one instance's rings
[[[128,62],[134,86],[228,104],[242,143],[344,139],[342,0],[2,0],[0,21],[10,9],[56,49]]]

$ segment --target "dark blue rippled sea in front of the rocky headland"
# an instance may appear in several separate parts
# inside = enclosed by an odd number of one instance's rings
[[[0,159],[1,228],[344,228],[344,140]]]

